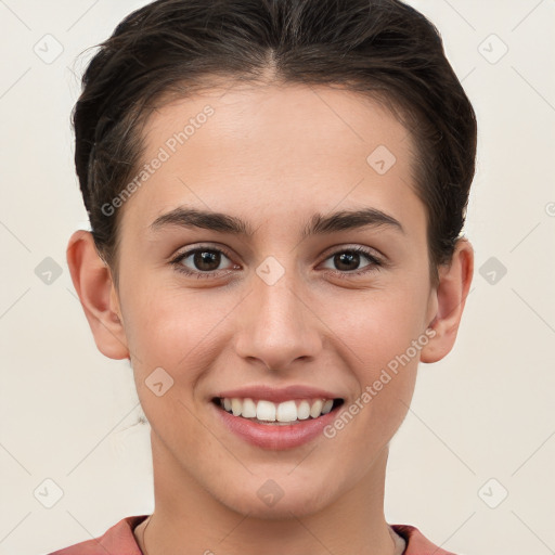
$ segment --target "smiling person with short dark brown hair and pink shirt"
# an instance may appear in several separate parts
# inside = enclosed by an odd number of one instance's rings
[[[473,107],[396,0],[159,0],[83,76],[67,248],[129,358],[155,509],[57,555],[423,555],[384,516],[420,361],[452,348]]]

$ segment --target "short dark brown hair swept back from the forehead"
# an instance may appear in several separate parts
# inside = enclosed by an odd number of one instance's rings
[[[82,77],[75,164],[96,249],[116,273],[118,214],[142,153],[141,126],[167,92],[210,77],[341,86],[388,103],[410,130],[427,208],[433,279],[449,262],[475,173],[473,106],[436,27],[398,0],[157,0],[128,15]]]

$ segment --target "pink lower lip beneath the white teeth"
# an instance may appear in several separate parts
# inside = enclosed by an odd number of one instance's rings
[[[210,404],[217,412],[218,417],[221,418],[231,431],[253,446],[272,450],[299,447],[323,435],[323,428],[337,417],[338,409],[340,409],[340,406],[334,409],[318,418],[308,418],[300,421],[299,424],[284,426],[279,424],[259,424],[241,416],[233,416],[233,414],[220,409],[215,403]]]

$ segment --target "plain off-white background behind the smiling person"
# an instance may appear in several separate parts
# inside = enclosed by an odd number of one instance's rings
[[[77,56],[144,3],[0,1],[2,555],[152,511],[130,367],[96,351],[65,262],[86,219],[69,113],[90,55]],[[386,516],[459,554],[554,553],[555,2],[411,3],[440,29],[478,115],[466,228],[477,266],[457,345],[421,366],[392,441]],[[61,271],[50,284],[47,257]],[[63,492],[51,508],[46,479]]]

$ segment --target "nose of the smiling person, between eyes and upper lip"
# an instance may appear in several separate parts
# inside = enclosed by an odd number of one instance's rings
[[[310,362],[322,349],[313,299],[294,274],[288,270],[273,284],[256,275],[237,319],[237,354],[272,371]]]

